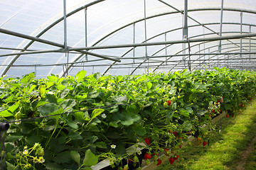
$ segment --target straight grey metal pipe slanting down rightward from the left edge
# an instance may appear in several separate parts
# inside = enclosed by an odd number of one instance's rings
[[[4,28],[0,28],[0,33],[5,33],[5,34],[8,34],[8,35],[14,35],[14,36],[19,37],[19,38],[25,38],[25,39],[28,39],[28,40],[33,40],[33,41],[36,41],[36,42],[41,42],[41,43],[44,43],[44,44],[53,45],[55,47],[61,47],[61,48],[65,49],[65,45],[62,45],[60,43],[52,42],[52,41],[49,41],[49,40],[44,40],[42,38],[36,38],[36,37],[31,36],[31,35],[25,35],[25,34],[21,34],[21,33],[16,33],[14,31],[6,30]],[[68,47],[68,49],[69,48],[72,48],[72,47]],[[94,52],[87,52],[87,51],[82,51],[82,50],[74,50],[74,51],[83,53],[85,55],[86,54],[87,55],[93,55],[95,57],[100,57],[100,58],[103,58],[103,59],[106,59],[106,60],[112,60],[112,61],[115,61],[115,62],[121,62],[120,60],[113,59],[113,58],[107,57],[105,55],[95,54]],[[20,54],[18,54],[18,55],[22,55],[22,52],[20,52]]]

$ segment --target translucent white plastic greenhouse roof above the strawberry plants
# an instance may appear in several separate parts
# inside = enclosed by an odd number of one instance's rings
[[[0,74],[255,68],[255,1],[185,1],[0,0]]]

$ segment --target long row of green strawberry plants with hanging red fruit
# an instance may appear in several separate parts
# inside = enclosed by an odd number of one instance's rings
[[[85,74],[0,80],[0,116],[14,122],[6,132],[9,169],[91,169],[107,158],[111,169],[140,169],[142,158],[161,164],[159,152],[172,164],[188,135],[206,140],[213,127],[203,125],[255,96],[255,72]],[[132,145],[145,149],[129,155]]]

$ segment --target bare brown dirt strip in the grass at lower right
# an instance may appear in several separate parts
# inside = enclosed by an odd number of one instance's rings
[[[256,126],[256,123],[254,126]],[[250,153],[253,151],[255,141],[256,141],[256,136],[252,139],[252,142],[250,142],[250,145],[242,152],[242,154],[240,154],[240,160],[236,163],[238,166],[235,167],[235,169],[237,170],[245,169],[246,159],[247,157],[250,156]]]

